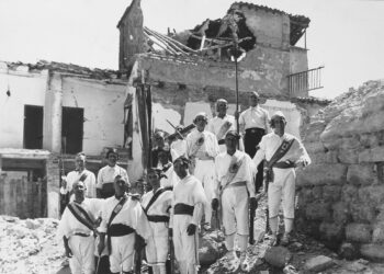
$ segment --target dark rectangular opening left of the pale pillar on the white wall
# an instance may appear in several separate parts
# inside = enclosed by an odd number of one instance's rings
[[[43,106],[24,105],[24,148],[43,148]]]

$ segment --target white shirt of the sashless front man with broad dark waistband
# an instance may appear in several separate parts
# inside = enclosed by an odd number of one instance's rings
[[[207,205],[202,183],[193,175],[188,174],[173,187],[172,208],[177,204],[194,206],[191,224],[199,225],[203,217],[203,208]],[[172,215],[170,227],[172,226]]]

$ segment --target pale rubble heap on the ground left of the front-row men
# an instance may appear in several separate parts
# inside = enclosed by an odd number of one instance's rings
[[[57,273],[64,261],[57,225],[50,218],[0,216],[0,273]]]

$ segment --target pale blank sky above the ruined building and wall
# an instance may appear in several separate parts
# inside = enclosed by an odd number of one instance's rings
[[[231,2],[142,0],[142,8],[145,25],[166,33],[168,26],[180,32],[207,18],[223,18]],[[309,68],[325,66],[326,87],[312,95],[334,98],[364,81],[384,79],[384,1],[249,2],[310,19]],[[116,24],[129,3],[131,0],[0,0],[0,60],[46,59],[117,69]]]

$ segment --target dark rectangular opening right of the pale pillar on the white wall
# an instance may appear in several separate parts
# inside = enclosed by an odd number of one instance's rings
[[[84,110],[63,107],[61,148],[64,153],[75,155],[82,150]]]

